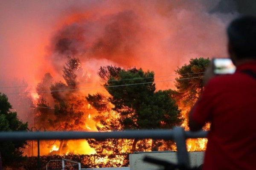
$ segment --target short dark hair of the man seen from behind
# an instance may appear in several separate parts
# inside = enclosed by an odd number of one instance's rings
[[[256,59],[256,17],[241,16],[227,27],[227,36],[237,59]]]

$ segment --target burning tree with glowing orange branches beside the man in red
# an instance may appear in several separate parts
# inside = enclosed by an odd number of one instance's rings
[[[189,65],[185,64],[175,71],[178,74],[175,81],[177,91],[173,96],[182,110],[181,113],[185,118],[183,126],[186,130],[189,130],[187,125],[189,111],[204,90],[203,77],[209,62],[209,58],[190,59]],[[204,129],[208,130],[209,125],[206,125]],[[203,150],[206,147],[207,139],[188,139],[187,142],[189,150]]]

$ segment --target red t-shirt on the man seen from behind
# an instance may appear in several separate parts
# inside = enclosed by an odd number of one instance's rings
[[[211,122],[203,170],[256,170],[256,62],[216,76],[195,104],[192,119]]]

